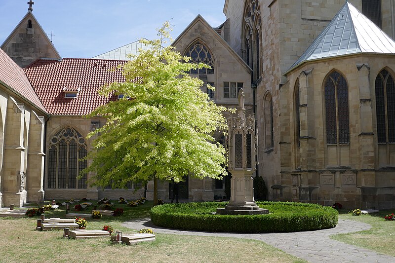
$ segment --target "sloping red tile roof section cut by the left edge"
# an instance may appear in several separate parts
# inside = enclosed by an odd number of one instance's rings
[[[47,113],[23,70],[0,48],[0,81]]]

